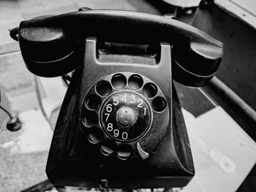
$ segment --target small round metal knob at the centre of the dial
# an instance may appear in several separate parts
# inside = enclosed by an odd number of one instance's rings
[[[130,107],[122,107],[116,114],[117,120],[124,126],[128,126],[135,121],[135,112]]]

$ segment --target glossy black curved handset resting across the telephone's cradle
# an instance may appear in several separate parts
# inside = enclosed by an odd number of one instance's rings
[[[197,28],[159,15],[124,10],[88,9],[24,20],[18,36],[26,66],[44,77],[77,67],[79,42],[86,37],[129,44],[168,42],[173,45],[173,78],[189,86],[205,85],[222,58],[222,43]]]

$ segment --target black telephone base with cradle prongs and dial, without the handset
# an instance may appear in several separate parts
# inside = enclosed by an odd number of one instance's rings
[[[154,65],[118,54],[105,62],[98,47],[96,39],[86,39],[85,64],[75,70],[61,106],[46,167],[50,182],[80,188],[97,188],[100,180],[126,189],[187,185],[195,170],[171,79],[170,45],[160,44]],[[135,64],[119,63],[125,57]]]

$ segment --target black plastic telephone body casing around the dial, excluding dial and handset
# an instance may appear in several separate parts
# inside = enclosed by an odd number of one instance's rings
[[[98,53],[96,39],[86,40],[83,65],[75,71],[69,84],[50,147],[46,172],[51,183],[97,187],[99,180],[107,179],[110,188],[170,188],[189,183],[195,171],[181,107],[173,89],[169,65],[171,47],[168,44],[159,47],[161,56],[155,65],[146,64],[145,57],[138,59],[132,55],[126,55],[130,58],[129,63],[106,63],[98,60],[101,53]],[[113,58],[119,56],[113,55]],[[83,102],[91,86],[108,74],[121,72],[148,77],[167,100],[166,115],[155,119],[159,129],[151,127],[157,132],[148,131],[151,136],[146,134],[145,137],[151,142],[141,145],[143,150],[150,151],[144,160],[139,155],[125,161],[115,155],[102,155],[99,146],[88,141],[85,126],[81,123]],[[161,131],[164,131],[164,137],[155,147],[154,140]]]

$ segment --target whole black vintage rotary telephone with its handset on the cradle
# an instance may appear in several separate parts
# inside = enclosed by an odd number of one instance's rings
[[[24,20],[16,31],[32,73],[75,69],[48,156],[51,183],[189,183],[195,171],[173,80],[205,85],[219,67],[221,42],[177,20],[107,9]]]

